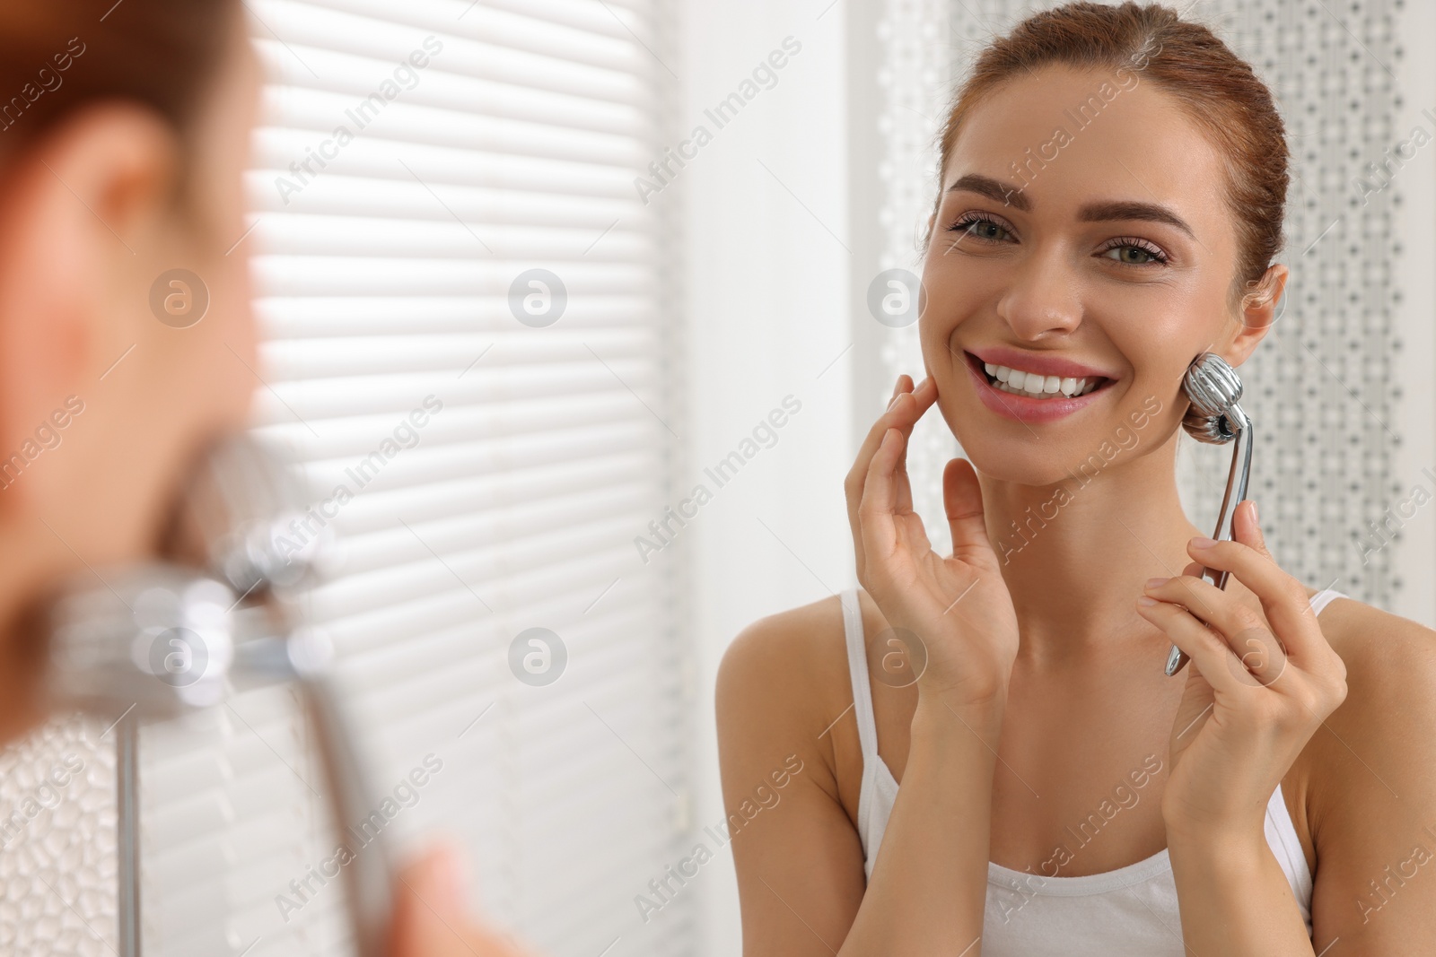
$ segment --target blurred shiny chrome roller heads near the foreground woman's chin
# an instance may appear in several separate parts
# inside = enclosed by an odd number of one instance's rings
[[[167,719],[244,686],[322,673],[326,649],[294,633],[289,594],[320,574],[329,529],[284,463],[224,436],[181,485],[164,560],[90,570],[45,597],[53,706]],[[296,521],[299,519],[299,521]]]

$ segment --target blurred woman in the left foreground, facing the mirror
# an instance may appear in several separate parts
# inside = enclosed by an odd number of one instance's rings
[[[247,418],[256,330],[236,242],[258,86],[234,0],[0,6],[0,745],[45,716],[26,605],[154,557],[187,462]],[[149,304],[175,267],[210,291],[182,330]],[[518,950],[471,921],[437,849],[395,885],[392,953]]]

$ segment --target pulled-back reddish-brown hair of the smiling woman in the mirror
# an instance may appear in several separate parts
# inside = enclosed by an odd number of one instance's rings
[[[1053,63],[1137,72],[1170,95],[1226,156],[1236,220],[1234,301],[1282,245],[1287,138],[1271,90],[1209,29],[1157,4],[1067,3],[1035,13],[992,40],[958,89],[942,128],[942,165],[968,115],[994,89]],[[941,184],[939,184],[941,187]],[[939,191],[941,204],[941,191]]]

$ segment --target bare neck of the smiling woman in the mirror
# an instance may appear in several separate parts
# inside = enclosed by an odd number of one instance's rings
[[[1150,643],[1136,611],[1147,578],[1180,575],[1198,529],[1176,489],[1176,436],[1096,473],[1032,486],[982,479],[988,535],[1017,610],[1020,656],[1038,666]]]

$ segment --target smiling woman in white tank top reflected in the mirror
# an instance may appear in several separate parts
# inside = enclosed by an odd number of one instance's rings
[[[1436,953],[1436,634],[1178,499],[1183,372],[1287,281],[1269,92],[1166,7],[1073,3],[982,53],[941,171],[926,377],[844,484],[862,588],[719,673],[744,954]],[[946,557],[931,409],[971,456]]]

